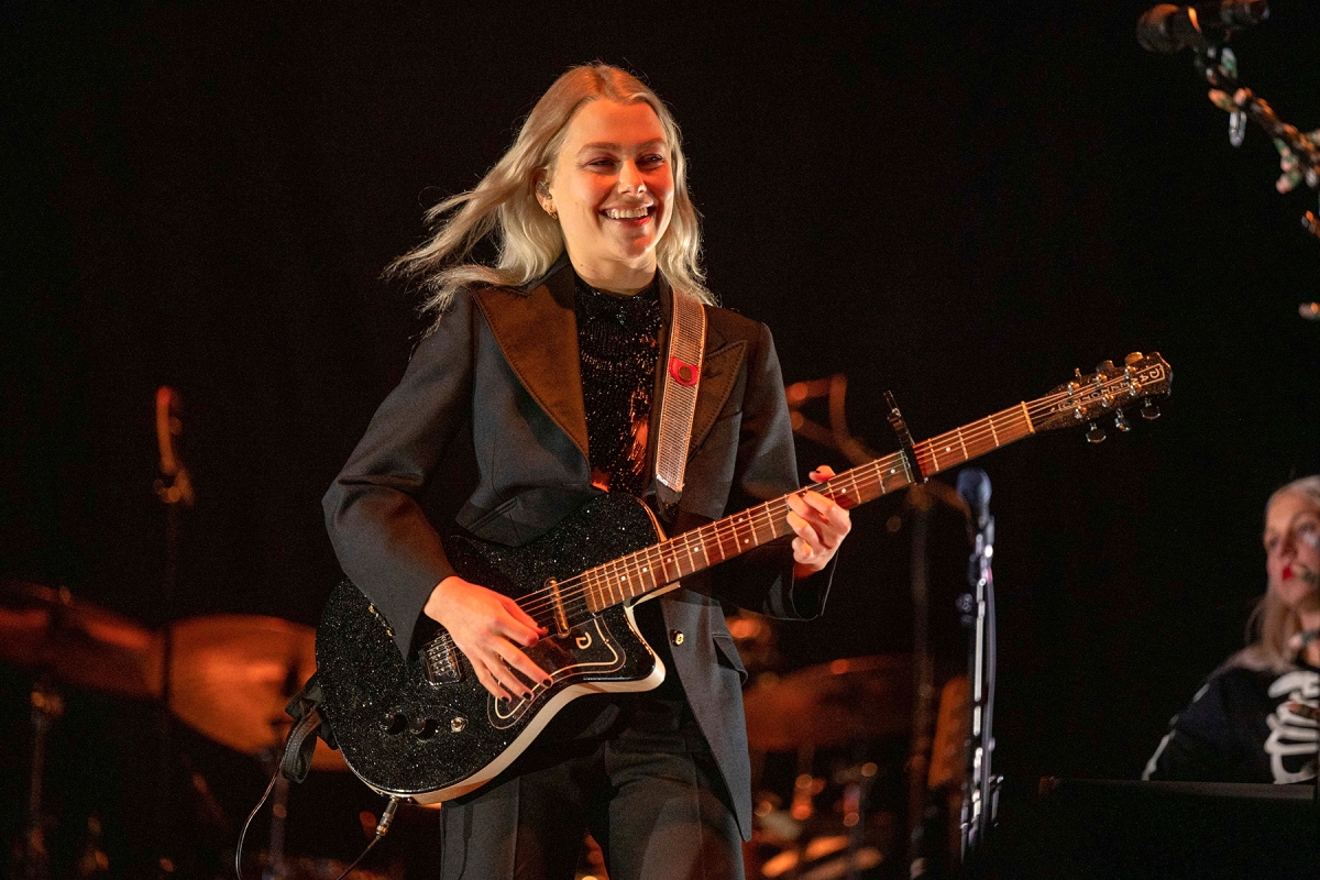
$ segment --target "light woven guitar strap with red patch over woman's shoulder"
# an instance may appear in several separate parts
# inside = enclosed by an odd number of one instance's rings
[[[697,391],[701,388],[701,361],[706,351],[705,306],[677,290],[671,301],[669,350],[665,352],[656,435],[656,500],[665,520],[673,519],[682,496],[682,475],[692,442],[692,421],[697,413]]]

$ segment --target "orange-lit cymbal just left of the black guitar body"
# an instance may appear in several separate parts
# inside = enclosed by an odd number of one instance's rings
[[[284,707],[317,668],[312,627],[259,615],[213,615],[180,620],[170,631],[170,711],[235,751],[281,749],[292,726]],[[346,769],[339,752],[321,740],[312,767]]]

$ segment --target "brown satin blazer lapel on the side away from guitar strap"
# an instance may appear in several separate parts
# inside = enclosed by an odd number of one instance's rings
[[[531,293],[483,288],[473,296],[527,393],[589,458],[573,272],[568,267],[565,260]]]

